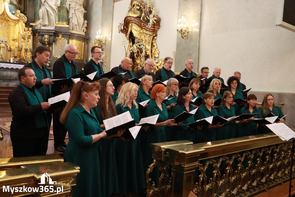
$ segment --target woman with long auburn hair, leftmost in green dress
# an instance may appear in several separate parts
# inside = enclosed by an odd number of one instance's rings
[[[74,85],[70,100],[60,115],[60,122],[65,124],[69,135],[64,162],[81,168],[73,186],[73,196],[102,196],[99,140],[107,135],[91,109],[98,103],[99,89],[98,82],[79,81]],[[122,134],[120,130],[114,136]]]

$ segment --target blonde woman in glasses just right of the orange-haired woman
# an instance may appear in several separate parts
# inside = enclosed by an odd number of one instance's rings
[[[173,77],[168,79],[166,87],[167,87],[168,98],[164,103],[167,106],[168,119],[172,119],[172,118],[174,118],[173,117],[173,115],[174,115],[173,110],[176,107],[178,80],[176,78],[173,78]],[[171,141],[175,140],[174,127],[168,127],[167,128],[166,139],[167,139],[167,142],[171,142]]]

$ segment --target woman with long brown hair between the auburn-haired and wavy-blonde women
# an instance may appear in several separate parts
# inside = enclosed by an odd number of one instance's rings
[[[99,91],[99,103],[92,108],[101,129],[105,129],[103,120],[117,116],[115,104],[111,95],[114,95],[114,86],[108,78],[99,80],[101,89]],[[101,194],[110,197],[112,193],[118,193],[116,157],[114,153],[114,138],[103,138],[99,140]]]

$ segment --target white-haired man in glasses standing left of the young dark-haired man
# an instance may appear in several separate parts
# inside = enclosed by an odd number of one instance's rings
[[[73,62],[77,55],[77,47],[74,44],[67,44],[63,56],[53,64],[53,79],[66,79],[78,75],[76,64]],[[69,89],[67,86],[63,87],[58,94],[62,94]],[[57,91],[54,92],[57,93]],[[61,111],[53,113],[54,148],[57,151],[64,152],[67,146],[64,141],[67,130],[65,125],[59,121],[60,113]]]

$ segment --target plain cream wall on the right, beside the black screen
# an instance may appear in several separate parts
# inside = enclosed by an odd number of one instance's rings
[[[295,93],[295,33],[276,26],[277,4],[203,1],[199,67],[221,67],[224,80],[239,71],[252,91]]]

